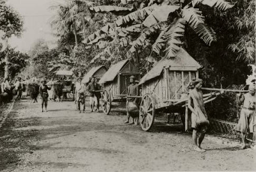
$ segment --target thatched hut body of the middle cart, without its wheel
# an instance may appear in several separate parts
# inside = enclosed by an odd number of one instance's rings
[[[138,68],[129,59],[125,59],[111,66],[102,76],[99,84],[102,84],[104,90],[109,90],[112,100],[119,99],[120,96],[127,94],[131,75],[135,75],[136,79],[140,80]]]

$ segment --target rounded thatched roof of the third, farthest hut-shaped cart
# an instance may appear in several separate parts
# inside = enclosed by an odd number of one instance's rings
[[[91,77],[100,79],[107,72],[107,68],[104,65],[93,67],[86,75],[84,75],[82,83],[88,84]]]

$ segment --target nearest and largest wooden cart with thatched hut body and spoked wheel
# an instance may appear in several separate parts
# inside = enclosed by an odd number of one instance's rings
[[[143,95],[140,105],[141,129],[147,131],[152,127],[157,111],[185,112],[188,85],[198,78],[200,67],[195,59],[181,48],[175,58],[162,59],[142,77],[139,83]],[[204,97],[205,101],[211,101],[216,97],[216,93],[209,93]],[[188,126],[186,121],[185,127]]]

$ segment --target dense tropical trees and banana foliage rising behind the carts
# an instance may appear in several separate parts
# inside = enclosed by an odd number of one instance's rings
[[[182,46],[202,65],[204,86],[232,88],[245,83],[247,65],[255,63],[255,1],[72,0],[52,10],[58,46],[32,48],[35,76],[50,77],[58,69],[84,75],[92,66],[126,58],[145,74],[152,62],[175,56]],[[222,95],[207,111],[236,118],[236,95]]]

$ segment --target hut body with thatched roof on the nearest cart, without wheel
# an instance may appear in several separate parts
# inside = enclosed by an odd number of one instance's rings
[[[182,93],[188,92],[189,82],[198,78],[199,68],[197,61],[180,48],[175,58],[162,59],[141,78],[142,95],[154,95],[156,108],[177,102]]]

